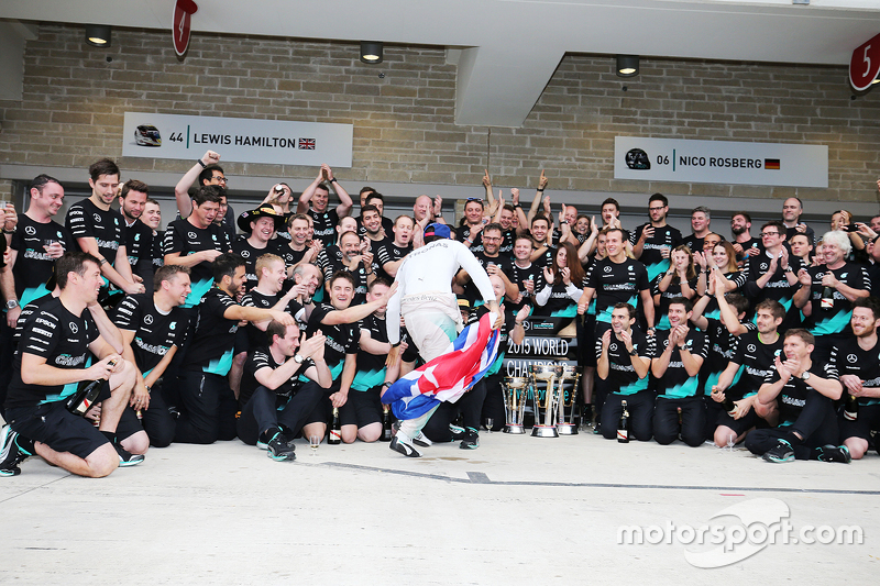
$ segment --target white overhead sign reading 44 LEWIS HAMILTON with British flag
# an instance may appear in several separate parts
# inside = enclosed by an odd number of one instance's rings
[[[351,124],[125,112],[122,156],[351,167]]]

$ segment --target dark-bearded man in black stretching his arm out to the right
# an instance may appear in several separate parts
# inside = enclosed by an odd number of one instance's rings
[[[195,213],[195,211],[194,211]],[[244,258],[223,253],[213,263],[215,287],[198,307],[198,325],[184,360],[180,409],[174,441],[213,443],[235,436],[235,397],[227,374],[232,366],[241,320],[295,323],[284,311],[243,307],[235,299],[244,285]]]

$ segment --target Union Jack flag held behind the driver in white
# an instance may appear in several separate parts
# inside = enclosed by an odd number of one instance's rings
[[[447,352],[413,371],[382,396],[397,419],[415,419],[440,401],[455,402],[490,369],[498,354],[498,331],[492,331],[494,313],[468,325]]]

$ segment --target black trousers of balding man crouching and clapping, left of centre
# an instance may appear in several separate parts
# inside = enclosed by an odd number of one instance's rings
[[[249,445],[256,445],[261,433],[278,425],[286,427],[292,435],[298,434],[323,396],[324,389],[312,380],[302,385],[287,405],[278,408],[275,391],[256,387],[251,400],[241,410],[237,425],[239,439]]]

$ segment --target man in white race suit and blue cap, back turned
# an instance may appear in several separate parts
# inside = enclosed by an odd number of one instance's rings
[[[493,328],[497,329],[503,319],[485,269],[464,244],[449,236],[448,225],[429,224],[425,229],[425,246],[409,253],[397,272],[395,281],[399,288],[388,300],[385,319],[388,342],[395,346],[388,356],[389,364],[397,362],[402,314],[409,338],[425,362],[442,355],[455,340],[462,330],[462,320],[451,283],[460,268],[470,275],[486,309],[497,316]],[[391,449],[406,456],[420,456],[413,440],[421,433],[435,409],[416,419],[402,421]]]

